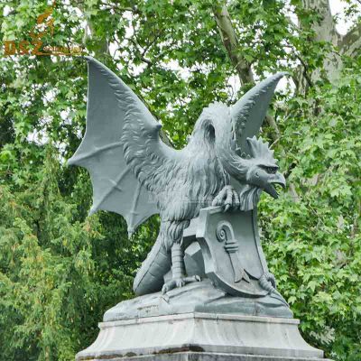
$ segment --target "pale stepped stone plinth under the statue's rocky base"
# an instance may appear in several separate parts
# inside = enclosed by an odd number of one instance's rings
[[[319,361],[297,319],[184,313],[106,321],[77,361]]]

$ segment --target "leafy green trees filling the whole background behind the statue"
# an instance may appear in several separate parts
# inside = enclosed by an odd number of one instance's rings
[[[31,41],[49,6],[1,4],[3,44]],[[177,148],[208,103],[232,104],[266,74],[289,71],[262,131],[289,184],[277,201],[261,200],[264,250],[303,336],[353,361],[361,356],[357,0],[347,14],[354,26],[341,36],[327,0],[74,1],[55,5],[42,41],[81,45],[114,69]],[[84,132],[83,60],[16,55],[0,67],[0,347],[12,360],[70,360],[96,337],[104,311],[131,297],[158,220],[129,241],[120,216],[87,218],[88,174],[65,164]]]

